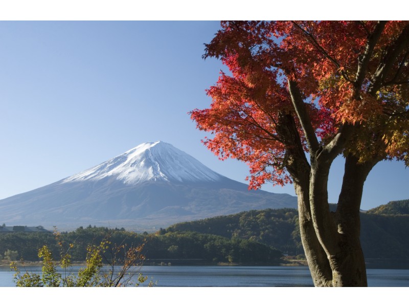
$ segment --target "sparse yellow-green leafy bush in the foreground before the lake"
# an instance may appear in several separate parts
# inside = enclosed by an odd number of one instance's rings
[[[142,249],[145,242],[139,246],[112,245],[108,234],[99,245],[88,245],[86,249],[86,266],[75,275],[69,272],[71,264],[70,244],[64,251],[59,233],[55,233],[60,249],[60,260],[55,261],[47,245],[38,250],[42,259],[42,274],[30,273],[25,269],[21,273],[15,262],[11,262],[14,270],[14,282],[17,287],[127,287],[140,286],[148,277],[140,273],[145,256]],[[103,261],[109,268],[106,270]],[[24,262],[23,262],[24,266]],[[62,272],[57,271],[60,266]],[[148,283],[152,287],[153,282]]]

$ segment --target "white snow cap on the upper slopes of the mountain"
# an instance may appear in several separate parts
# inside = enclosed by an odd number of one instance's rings
[[[158,141],[140,144],[63,182],[101,180],[106,177],[129,185],[145,181],[206,182],[222,179],[222,176],[186,152]]]

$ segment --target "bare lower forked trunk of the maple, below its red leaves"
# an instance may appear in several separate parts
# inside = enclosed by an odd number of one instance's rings
[[[330,212],[327,201],[327,170],[313,165],[309,188],[306,182],[294,184],[301,239],[316,287],[368,286],[359,240],[359,207],[363,183],[375,164],[359,164],[353,156],[346,158],[336,212]]]

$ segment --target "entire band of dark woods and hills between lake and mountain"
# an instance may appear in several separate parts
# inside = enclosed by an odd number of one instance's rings
[[[409,200],[390,202],[361,213],[361,244],[366,258],[409,259],[409,215],[406,212],[409,212]],[[178,223],[153,234],[89,225],[60,236],[65,248],[70,249],[72,260],[83,261],[87,245],[99,244],[108,233],[112,244],[117,245],[140,245],[146,239],[143,253],[148,264],[196,259],[205,264],[272,265],[280,261],[282,254],[303,254],[295,209],[252,210],[217,216]],[[56,255],[60,250],[52,233],[0,234],[0,259],[37,261],[38,250],[44,245]]]

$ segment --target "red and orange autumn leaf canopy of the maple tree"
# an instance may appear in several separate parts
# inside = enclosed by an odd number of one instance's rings
[[[346,126],[343,155],[359,162],[396,158],[409,166],[407,21],[230,21],[221,27],[203,57],[221,59],[229,72],[207,90],[210,108],[195,109],[191,118],[213,134],[203,142],[220,159],[249,165],[251,188],[291,182],[288,146],[301,142],[309,152]],[[303,105],[294,108],[293,101]],[[299,140],[283,139],[288,114]]]

